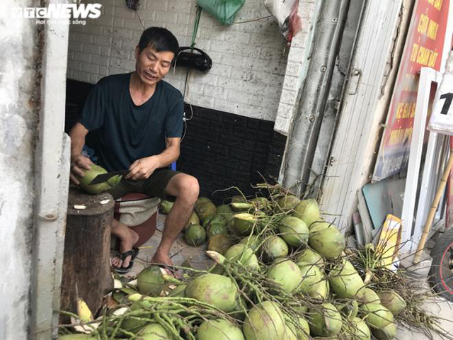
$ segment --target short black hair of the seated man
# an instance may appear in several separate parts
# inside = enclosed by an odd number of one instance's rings
[[[139,41],[139,52],[151,46],[156,52],[173,52],[178,55],[178,39],[163,27],[149,27],[143,31]]]

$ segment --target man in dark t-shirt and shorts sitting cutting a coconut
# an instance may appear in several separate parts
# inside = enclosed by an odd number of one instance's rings
[[[129,169],[110,189],[117,199],[127,193],[145,193],[176,201],[165,222],[161,243],[151,262],[171,266],[169,252],[193,211],[199,186],[195,177],[172,171],[169,165],[180,153],[183,131],[183,96],[162,79],[178,53],[178,40],[165,28],[144,30],[135,47],[135,71],[98,81],[86,99],[71,137],[71,181],[93,164],[81,152],[89,131],[98,130],[96,154],[107,171]],[[112,259],[117,271],[132,268],[131,259],[139,236],[113,220],[112,233],[120,239],[120,256]]]

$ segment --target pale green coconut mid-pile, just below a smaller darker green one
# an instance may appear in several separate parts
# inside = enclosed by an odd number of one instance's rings
[[[299,267],[289,259],[270,266],[266,277],[278,283],[287,293],[299,290],[302,282],[302,273]]]

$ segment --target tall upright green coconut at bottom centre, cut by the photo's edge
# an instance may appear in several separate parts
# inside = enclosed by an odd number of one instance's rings
[[[264,301],[251,308],[242,329],[246,340],[284,339],[285,318],[275,302]]]

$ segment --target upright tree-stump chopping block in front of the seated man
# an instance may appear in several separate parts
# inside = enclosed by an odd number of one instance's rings
[[[77,297],[81,297],[96,314],[105,291],[113,287],[110,230],[114,204],[109,193],[91,195],[78,188],[69,189],[61,310],[76,312]]]

